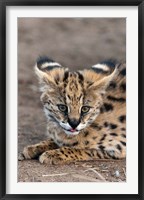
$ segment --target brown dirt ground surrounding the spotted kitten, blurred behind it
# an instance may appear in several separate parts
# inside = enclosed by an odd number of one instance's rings
[[[126,59],[124,18],[19,18],[18,19],[18,152],[46,138],[33,66],[47,55],[71,70],[99,61]],[[18,162],[19,182],[126,181],[126,161],[77,162],[46,166],[38,160]]]

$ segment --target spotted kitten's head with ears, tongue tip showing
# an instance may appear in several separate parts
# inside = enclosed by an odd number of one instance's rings
[[[106,65],[98,64],[88,70],[70,72],[59,63],[41,57],[35,72],[46,116],[58,123],[67,135],[77,135],[99,115],[105,90],[116,69],[107,73]]]

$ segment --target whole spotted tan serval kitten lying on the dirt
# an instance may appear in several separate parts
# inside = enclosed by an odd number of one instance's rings
[[[126,67],[113,61],[71,72],[47,58],[35,72],[47,117],[47,141],[24,148],[26,159],[62,164],[126,156]]]

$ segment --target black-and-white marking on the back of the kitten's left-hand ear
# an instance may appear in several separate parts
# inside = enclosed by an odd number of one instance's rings
[[[51,58],[48,58],[47,56],[40,56],[36,63],[38,69],[42,71],[50,71],[52,69],[62,67],[59,63],[55,62]]]

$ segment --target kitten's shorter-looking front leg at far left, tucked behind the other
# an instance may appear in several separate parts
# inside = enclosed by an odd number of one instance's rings
[[[43,152],[56,148],[58,146],[52,140],[29,145],[24,147],[23,152],[19,155],[19,160],[38,158]]]

